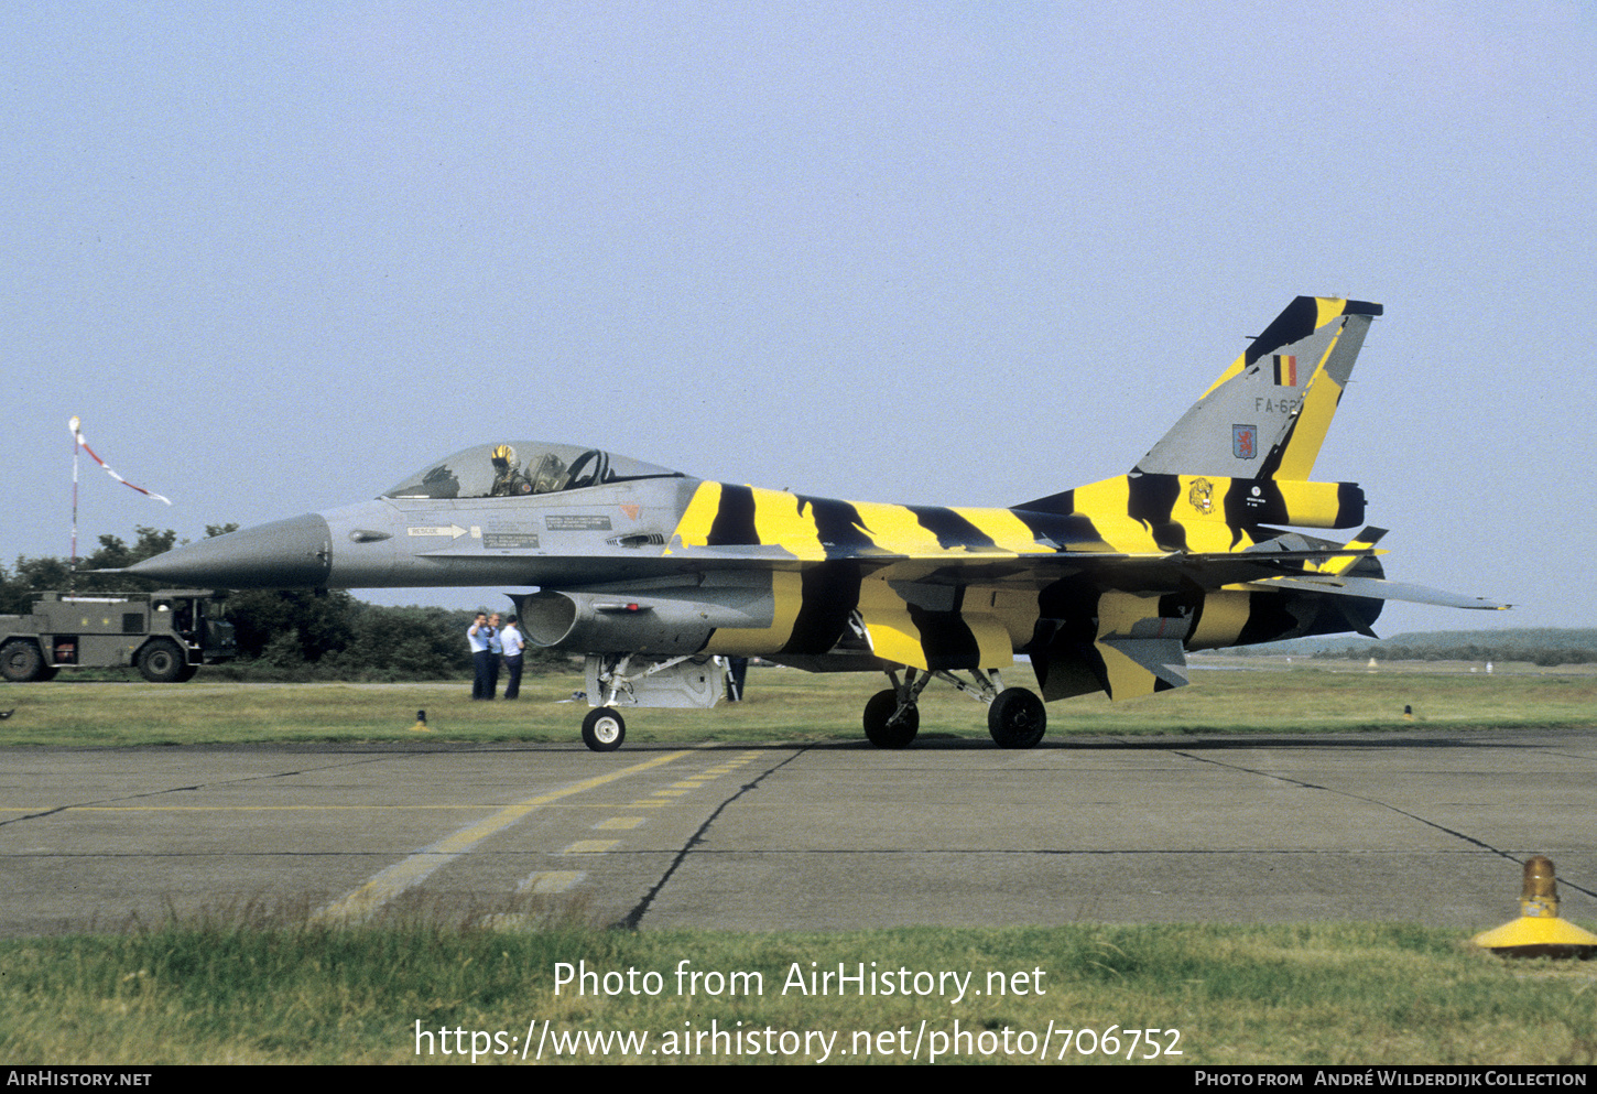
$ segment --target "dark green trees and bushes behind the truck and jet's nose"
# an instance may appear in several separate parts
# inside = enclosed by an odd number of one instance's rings
[[[206,527],[206,537],[236,530]],[[99,548],[73,569],[61,557],[18,557],[0,565],[0,615],[26,615],[45,591],[85,594],[150,593],[160,583],[121,573],[134,562],[177,546],[171,529],[134,529],[134,541],[99,537]],[[256,680],[450,680],[471,676],[466,628],[474,612],[438,607],[383,607],[342,589],[248,589],[228,593],[227,620],[238,637],[240,661],[208,672]],[[503,610],[490,607],[489,610]],[[567,668],[570,658],[527,650],[525,671]]]

